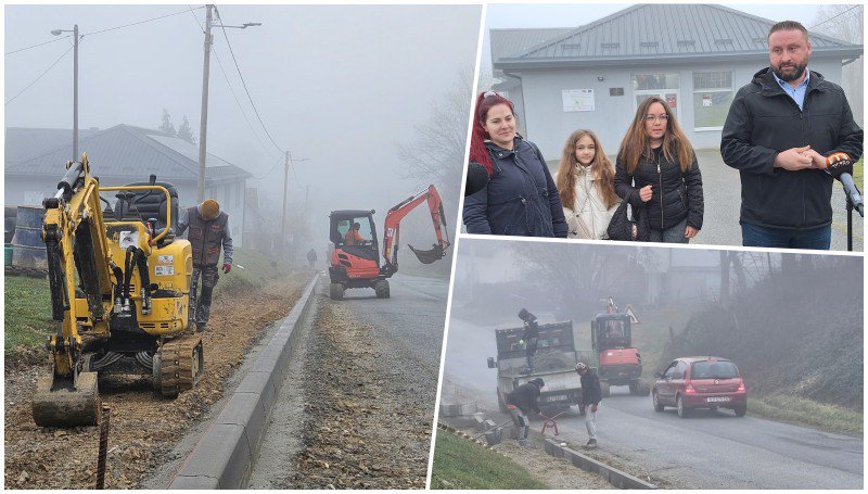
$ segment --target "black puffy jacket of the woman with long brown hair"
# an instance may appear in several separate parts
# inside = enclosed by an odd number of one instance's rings
[[[648,226],[655,230],[672,228],[685,217],[687,226],[701,230],[705,205],[702,198],[702,174],[695,153],[690,169],[685,173],[681,173],[677,157],[675,159],[676,161],[666,160],[662,147],[651,150],[650,157],[639,159],[630,177],[627,174],[627,164],[618,155],[615,162],[615,192],[621,199],[627,199],[634,207],[644,205],[648,208]],[[648,185],[651,186],[651,200],[643,203],[639,199],[639,189]]]

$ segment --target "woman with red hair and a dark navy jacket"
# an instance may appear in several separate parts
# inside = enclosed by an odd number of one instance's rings
[[[512,102],[496,92],[476,98],[470,162],[488,185],[464,198],[468,233],[566,238],[558,188],[539,149],[515,131]]]

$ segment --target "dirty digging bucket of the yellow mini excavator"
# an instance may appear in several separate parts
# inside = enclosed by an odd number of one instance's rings
[[[77,385],[50,375],[36,383],[33,415],[39,427],[95,426],[99,410],[97,372],[79,372]]]

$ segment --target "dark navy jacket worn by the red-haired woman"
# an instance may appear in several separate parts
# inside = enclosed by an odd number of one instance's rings
[[[494,174],[464,198],[468,233],[566,238],[558,187],[536,144],[515,137],[513,150],[486,142]]]

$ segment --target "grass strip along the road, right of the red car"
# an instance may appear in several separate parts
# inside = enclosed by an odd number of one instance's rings
[[[748,396],[748,414],[839,434],[861,435],[861,410],[782,394]]]

